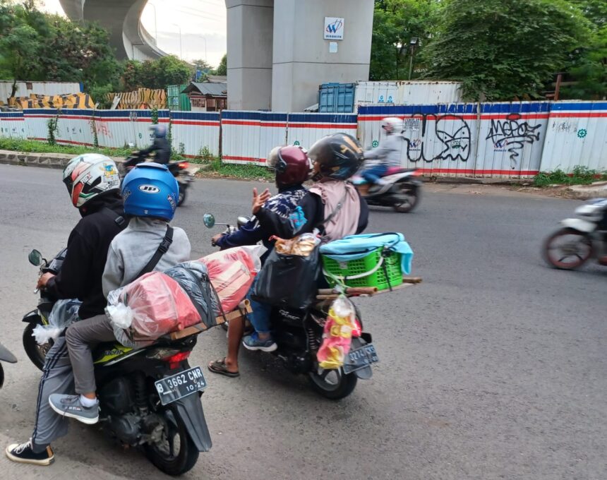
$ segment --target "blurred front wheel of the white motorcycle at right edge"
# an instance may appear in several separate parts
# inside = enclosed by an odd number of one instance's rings
[[[543,246],[543,256],[554,268],[574,270],[592,256],[592,241],[587,233],[563,228],[548,237]]]

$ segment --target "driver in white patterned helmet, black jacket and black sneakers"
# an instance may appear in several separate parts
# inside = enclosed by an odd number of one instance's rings
[[[102,275],[109,244],[127,225],[122,215],[120,179],[113,160],[96,153],[73,158],[64,169],[64,184],[82,219],[73,228],[67,253],[58,275],[45,273],[37,288],[56,299],[80,299],[81,319],[103,313],[106,306]],[[8,445],[6,456],[14,462],[49,465],[54,461],[50,443],[64,436],[68,420],[55,414],[49,395],[73,390],[73,374],[65,337],[54,341],[47,353],[36,406],[32,437],[20,445]]]

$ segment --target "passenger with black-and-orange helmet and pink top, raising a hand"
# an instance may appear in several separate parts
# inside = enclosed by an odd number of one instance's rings
[[[261,226],[276,232],[283,239],[318,229],[323,242],[359,234],[367,226],[368,207],[349,179],[362,162],[363,149],[356,138],[347,133],[334,133],[318,140],[308,151],[313,163],[313,186],[288,217],[277,215],[265,205],[268,191],[257,195],[253,191],[253,214]],[[269,325],[256,324],[256,332],[244,337],[243,344],[271,342]],[[273,342],[272,342],[273,343]]]

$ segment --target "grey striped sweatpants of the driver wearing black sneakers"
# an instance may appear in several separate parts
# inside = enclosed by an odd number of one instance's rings
[[[36,424],[32,433],[35,452],[42,452],[53,440],[68,433],[68,419],[55,413],[49,405],[52,393],[73,393],[74,378],[65,337],[55,340],[47,353],[38,388]]]

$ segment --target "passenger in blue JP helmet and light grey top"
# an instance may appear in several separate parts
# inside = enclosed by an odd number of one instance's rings
[[[142,190],[145,186],[145,190]],[[179,186],[167,167],[145,163],[129,172],[122,184],[124,212],[131,215],[128,227],[116,235],[107,253],[103,272],[103,292],[123,287],[143,273],[172,268],[190,258],[190,241],[184,230],[169,227],[173,219]],[[164,249],[159,246],[164,244]],[[157,251],[162,255],[156,256]],[[150,260],[152,259],[152,260]],[[138,344],[127,340],[118,329],[117,337],[128,347]],[[56,393],[49,397],[52,409],[60,415],[95,424],[99,420],[99,403],[95,385],[92,347],[100,342],[113,342],[114,327],[103,313],[70,325],[66,342],[74,373],[76,393]]]

